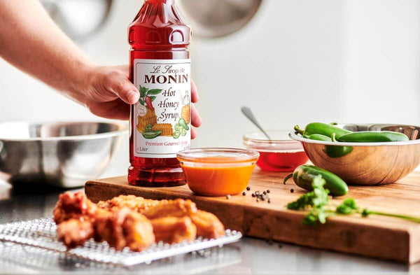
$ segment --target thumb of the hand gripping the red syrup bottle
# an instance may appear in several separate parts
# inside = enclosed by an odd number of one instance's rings
[[[139,90],[128,79],[125,73],[111,71],[106,76],[107,89],[116,94],[127,104],[136,104],[139,101]]]

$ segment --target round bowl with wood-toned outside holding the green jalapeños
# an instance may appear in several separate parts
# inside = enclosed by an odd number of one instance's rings
[[[393,131],[406,134],[410,141],[387,143],[353,143],[314,141],[290,132],[292,139],[301,141],[314,165],[331,171],[346,183],[380,185],[394,183],[420,164],[420,127],[411,125],[337,125],[353,132]],[[346,146],[346,154],[331,154],[332,146]]]

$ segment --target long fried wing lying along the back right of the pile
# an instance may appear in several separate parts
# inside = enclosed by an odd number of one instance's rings
[[[197,212],[197,206],[189,199],[174,199],[151,207],[141,213],[148,219],[190,216]]]

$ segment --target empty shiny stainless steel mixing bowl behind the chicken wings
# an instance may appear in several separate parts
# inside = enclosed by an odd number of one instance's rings
[[[0,178],[31,188],[82,186],[106,169],[125,132],[123,123],[0,123]]]

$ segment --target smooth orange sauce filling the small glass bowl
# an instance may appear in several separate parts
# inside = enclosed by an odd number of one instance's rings
[[[179,157],[190,190],[197,195],[225,196],[237,195],[248,185],[255,162],[253,159],[229,155],[195,157],[183,160]]]

